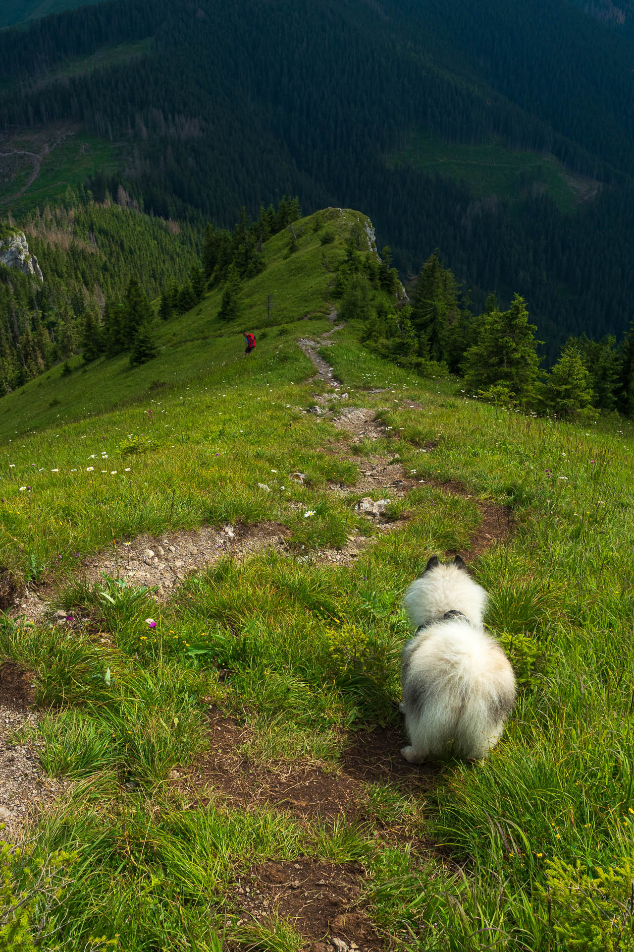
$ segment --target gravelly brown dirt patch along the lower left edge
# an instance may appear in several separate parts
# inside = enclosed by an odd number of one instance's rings
[[[32,743],[15,742],[25,726],[35,727],[30,709],[33,684],[28,671],[18,664],[0,665],[0,839],[16,842],[24,823],[37,809],[57,800],[70,785],[45,777]]]

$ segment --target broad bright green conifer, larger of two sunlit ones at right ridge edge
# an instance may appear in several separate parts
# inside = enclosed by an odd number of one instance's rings
[[[522,406],[535,399],[540,358],[534,324],[528,324],[524,298],[516,294],[509,310],[483,315],[480,339],[465,354],[465,383],[470,393],[505,387]]]

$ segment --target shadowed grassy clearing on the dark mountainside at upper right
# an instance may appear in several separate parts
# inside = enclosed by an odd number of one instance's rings
[[[552,155],[509,149],[501,141],[473,146],[443,142],[423,133],[413,133],[402,149],[388,156],[387,165],[413,165],[460,179],[478,199],[497,195],[518,202],[535,190],[547,191],[558,208],[568,212],[574,210],[580,191],[597,186],[577,180]]]

